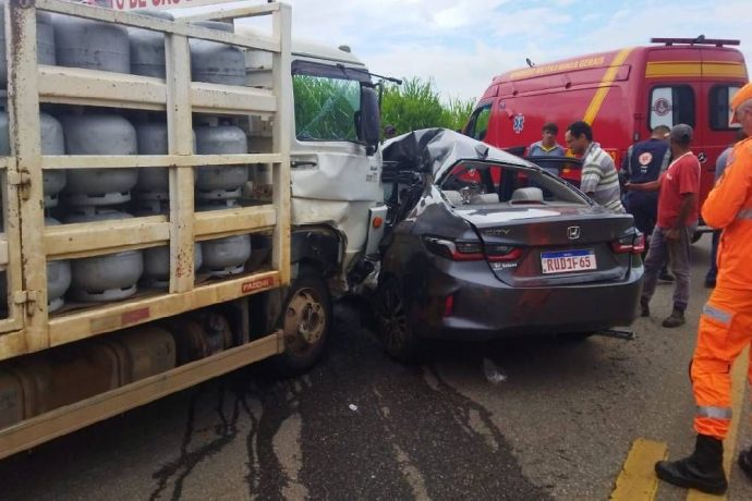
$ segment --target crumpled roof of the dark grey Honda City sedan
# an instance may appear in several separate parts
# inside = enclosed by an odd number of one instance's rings
[[[421,129],[384,144],[381,158],[398,169],[438,175],[460,160],[497,161],[538,169],[501,149],[448,129]]]

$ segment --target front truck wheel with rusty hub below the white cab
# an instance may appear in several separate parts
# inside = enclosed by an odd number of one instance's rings
[[[318,362],[329,339],[331,311],[331,296],[324,279],[311,271],[301,273],[282,306],[284,352],[275,361],[280,372],[296,376]]]

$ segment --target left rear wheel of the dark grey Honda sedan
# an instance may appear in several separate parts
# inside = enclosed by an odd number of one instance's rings
[[[408,314],[399,280],[388,278],[376,292],[376,329],[384,351],[409,364],[417,355],[419,340],[408,327]]]

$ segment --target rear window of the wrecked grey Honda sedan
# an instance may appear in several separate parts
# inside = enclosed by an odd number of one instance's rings
[[[514,166],[461,162],[449,170],[438,185],[454,205],[587,205],[581,194],[560,180],[535,169]]]

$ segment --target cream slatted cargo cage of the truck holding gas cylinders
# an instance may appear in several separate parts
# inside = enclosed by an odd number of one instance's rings
[[[61,0],[10,0],[4,9],[11,156],[0,158],[5,218],[4,233],[0,234],[0,268],[7,272],[9,281],[8,314],[0,319],[0,361],[289,283],[290,131],[283,125],[287,121],[275,120],[275,117],[292,113],[286,98],[290,94],[287,88],[290,81],[286,77],[290,74],[290,10],[287,5],[255,4],[216,13],[225,19],[270,15],[270,36],[240,36],[185,22]],[[37,64],[37,11],[163,34],[166,78]],[[192,81],[189,38],[270,52],[274,86],[268,89]],[[169,151],[167,155],[43,155],[39,144],[43,103],[165,112]],[[271,150],[196,155],[192,131],[195,113],[269,120],[272,123]],[[194,208],[194,168],[238,164],[270,168],[271,200],[197,212]],[[43,170],[157,167],[169,169],[169,217],[45,227]],[[223,280],[196,283],[195,242],[259,232],[270,235],[270,266]],[[131,300],[61,314],[48,311],[48,261],[163,245],[169,245],[170,255],[168,291],[149,291]]]

